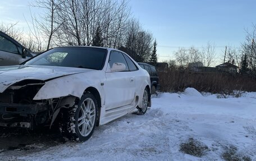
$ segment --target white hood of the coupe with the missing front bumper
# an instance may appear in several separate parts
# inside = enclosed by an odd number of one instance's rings
[[[53,66],[4,66],[0,67],[0,93],[16,82],[32,80],[51,80],[57,77],[93,71],[84,68]]]

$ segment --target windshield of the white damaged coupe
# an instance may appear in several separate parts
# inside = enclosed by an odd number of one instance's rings
[[[107,49],[90,47],[54,48],[30,59],[25,65],[61,66],[102,70]]]

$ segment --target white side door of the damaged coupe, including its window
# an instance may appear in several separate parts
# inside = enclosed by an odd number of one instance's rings
[[[126,70],[112,72],[113,63],[124,63]],[[116,50],[112,50],[109,56],[104,90],[106,110],[129,105],[135,97],[135,76],[129,71],[124,55]]]

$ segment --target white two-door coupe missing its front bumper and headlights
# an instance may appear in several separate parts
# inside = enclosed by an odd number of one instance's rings
[[[85,141],[95,126],[150,107],[150,77],[112,48],[58,47],[19,66],[0,67],[0,126],[58,125]]]

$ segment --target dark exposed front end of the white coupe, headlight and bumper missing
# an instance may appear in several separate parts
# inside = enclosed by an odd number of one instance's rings
[[[42,80],[22,80],[0,93],[0,126],[31,130],[51,126],[61,108],[74,105],[75,96],[33,100],[44,84]]]

